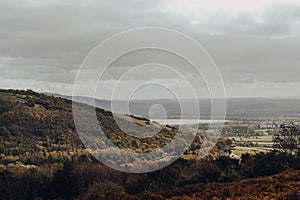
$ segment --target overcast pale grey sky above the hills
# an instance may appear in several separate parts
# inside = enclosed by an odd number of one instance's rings
[[[299,0],[1,0],[0,88],[71,95],[76,73],[95,46],[141,27],[174,29],[194,38],[218,66],[229,98],[300,96]],[[109,99],[122,74],[151,59],[171,60],[199,96],[207,96],[203,80],[181,61],[141,51],[113,63],[97,98]],[[167,71],[138,73],[121,81],[119,98],[145,79],[184,91],[182,80]],[[136,98],[170,98],[161,88],[144,89]]]

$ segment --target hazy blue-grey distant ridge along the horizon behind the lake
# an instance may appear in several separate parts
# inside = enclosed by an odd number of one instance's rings
[[[53,94],[57,97],[72,99],[71,96]],[[89,97],[74,97],[78,102],[93,104],[97,107],[112,110],[112,102]],[[229,98],[227,101],[227,117],[299,117],[300,99],[297,98]],[[195,109],[190,105],[191,100],[185,99],[181,104],[187,106],[187,113],[182,113],[186,118],[198,118]],[[218,100],[216,101],[218,102]],[[132,114],[149,118],[149,109],[154,104],[161,104],[166,109],[169,118],[178,118],[181,115],[180,103],[176,100],[132,100],[129,104],[125,101],[113,101],[114,111],[122,114]],[[199,110],[202,118],[211,115],[211,100],[199,99]],[[129,113],[125,107],[129,105]]]

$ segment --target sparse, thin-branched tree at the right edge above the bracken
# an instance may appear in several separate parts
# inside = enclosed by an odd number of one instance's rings
[[[290,123],[280,125],[280,130],[274,134],[273,148],[288,155],[291,160],[300,158],[300,126]]]

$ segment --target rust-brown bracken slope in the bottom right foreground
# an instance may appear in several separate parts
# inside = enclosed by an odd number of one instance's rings
[[[270,177],[253,178],[234,183],[194,185],[182,188],[177,193],[181,193],[181,195],[176,195],[170,200],[300,199],[300,171],[286,171]]]

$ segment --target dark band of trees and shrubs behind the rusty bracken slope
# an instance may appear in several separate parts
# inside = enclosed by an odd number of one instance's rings
[[[255,156],[247,154],[241,162],[228,157],[216,160],[180,158],[155,172],[128,174],[108,168],[86,155],[76,161],[56,160],[41,166],[20,162],[0,165],[0,193],[1,199],[166,199],[201,193],[197,188],[205,188],[206,193],[201,195],[208,198],[215,191],[208,190],[204,184],[212,187],[215,183],[218,191],[221,189],[217,186],[226,187],[228,191],[223,191],[222,195],[230,197],[238,190],[238,184],[231,188],[221,183],[288,173],[286,170],[292,169],[300,169],[299,160],[290,163],[286,156],[273,152]],[[299,175],[299,171],[293,173]],[[251,180],[245,185],[251,191],[247,195],[259,195],[253,188],[257,187],[256,179]],[[290,188],[287,183],[278,181],[274,185],[269,182],[269,189],[261,191],[269,190],[270,195],[280,191],[299,195],[300,176],[294,177],[298,188]],[[294,194],[295,189],[298,193]]]

